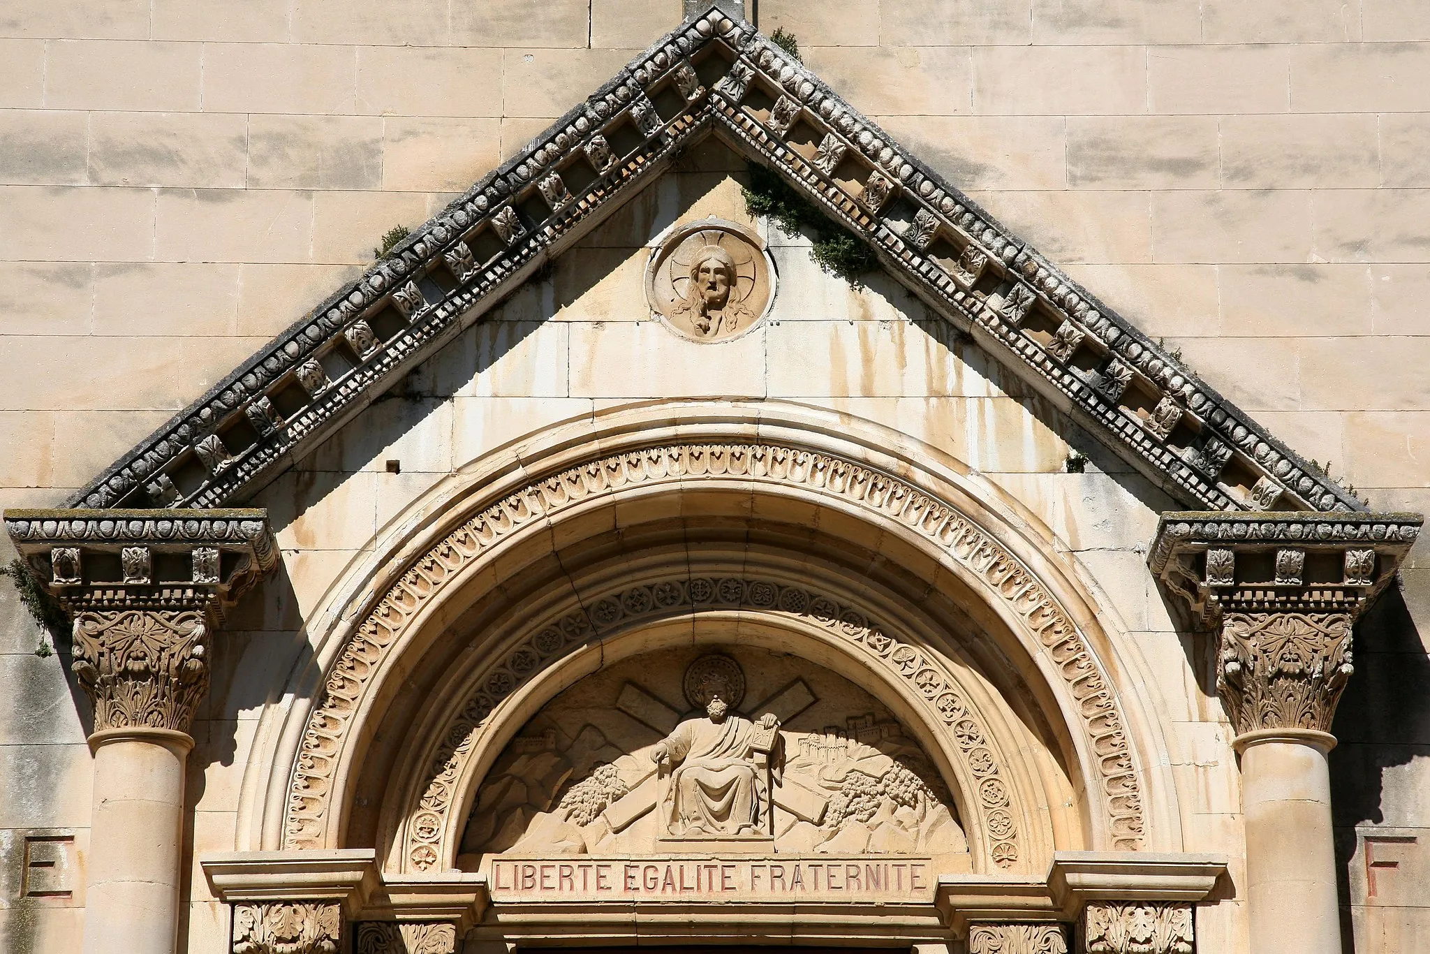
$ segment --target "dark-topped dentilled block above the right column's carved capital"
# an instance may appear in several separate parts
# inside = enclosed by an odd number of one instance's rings
[[[1350,612],[1394,578],[1420,513],[1167,512],[1147,565],[1204,621],[1224,611]]]

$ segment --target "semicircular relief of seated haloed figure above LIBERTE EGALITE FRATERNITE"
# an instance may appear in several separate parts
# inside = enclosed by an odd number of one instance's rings
[[[684,854],[968,868],[952,798],[889,711],[828,669],[749,648],[638,657],[556,697],[482,782],[459,864]]]

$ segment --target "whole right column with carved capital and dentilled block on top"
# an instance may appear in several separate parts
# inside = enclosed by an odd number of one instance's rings
[[[1168,513],[1157,528],[1153,572],[1217,635],[1256,954],[1341,951],[1331,719],[1354,671],[1356,618],[1420,523],[1411,513]]]

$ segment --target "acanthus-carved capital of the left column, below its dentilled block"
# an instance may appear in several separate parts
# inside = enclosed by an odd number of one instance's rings
[[[74,675],[94,701],[94,729],[187,732],[209,691],[202,612],[86,611],[74,616]]]

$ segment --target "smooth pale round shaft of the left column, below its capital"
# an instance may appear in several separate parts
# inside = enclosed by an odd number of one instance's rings
[[[184,764],[173,729],[102,729],[94,751],[84,954],[173,954],[179,927]]]

